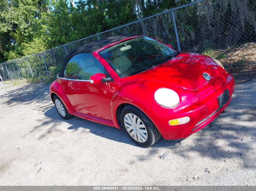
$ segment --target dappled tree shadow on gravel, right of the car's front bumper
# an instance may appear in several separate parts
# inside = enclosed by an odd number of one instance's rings
[[[189,151],[199,153],[202,158],[209,157],[218,160],[239,158],[244,168],[256,168],[255,127],[256,127],[256,81],[253,85],[240,85],[225,112],[205,126],[194,137],[193,143],[187,145],[181,141],[178,150],[172,148],[175,154],[187,156]],[[162,140],[153,147],[168,146],[167,140]],[[182,145],[186,144],[184,147]]]

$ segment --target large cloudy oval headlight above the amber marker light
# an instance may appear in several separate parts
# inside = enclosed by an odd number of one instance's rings
[[[180,98],[175,91],[168,88],[160,88],[155,91],[155,100],[161,106],[175,107],[179,103]]]

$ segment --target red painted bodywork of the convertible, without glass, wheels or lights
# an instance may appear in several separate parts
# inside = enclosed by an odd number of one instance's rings
[[[116,115],[118,106],[122,103],[134,105],[151,119],[165,139],[188,137],[210,123],[228,106],[235,89],[234,78],[205,55],[181,52],[164,64],[120,78],[98,52],[125,40],[93,53],[114,81],[91,84],[89,81],[57,77],[50,87],[51,97],[57,94],[72,115],[119,129]],[[210,81],[204,79],[203,72],[211,75]],[[178,105],[174,108],[160,106],[154,99],[154,93],[159,88],[170,88],[177,92],[180,97]],[[217,98],[226,89],[230,100],[218,109]],[[190,117],[188,123],[176,126],[168,123],[171,119],[185,116]]]

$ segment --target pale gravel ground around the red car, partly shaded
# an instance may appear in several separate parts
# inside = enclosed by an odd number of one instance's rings
[[[0,185],[256,185],[256,80],[237,85],[204,129],[150,148],[120,129],[62,120],[50,84],[1,86]]]

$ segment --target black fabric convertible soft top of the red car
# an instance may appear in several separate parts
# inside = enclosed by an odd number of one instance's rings
[[[86,44],[84,46],[81,46],[75,50],[73,50],[71,53],[69,53],[63,62],[63,66],[62,69],[59,73],[59,77],[63,78],[64,75],[64,71],[65,71],[65,67],[69,61],[69,59],[71,59],[73,56],[75,56],[76,54],[81,54],[81,53],[88,53],[88,54],[92,54],[94,53],[96,50],[103,48],[104,46],[108,46],[109,44],[118,42],[119,40],[124,40],[126,38],[129,37],[135,37],[136,35],[132,35],[132,36],[115,36],[115,37],[108,37],[105,39],[101,39],[89,44]]]

